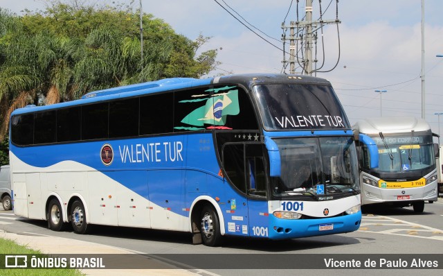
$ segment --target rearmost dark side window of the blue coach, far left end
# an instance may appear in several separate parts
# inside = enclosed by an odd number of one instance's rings
[[[12,143],[26,146],[34,143],[34,114],[23,114],[12,117]]]

